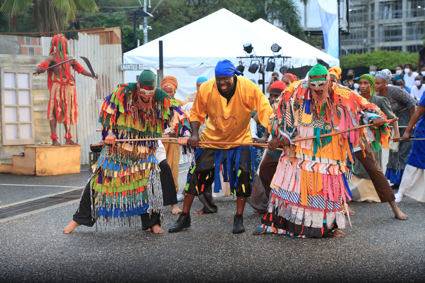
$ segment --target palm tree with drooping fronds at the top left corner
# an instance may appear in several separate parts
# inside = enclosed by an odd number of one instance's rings
[[[94,0],[4,0],[0,11],[13,18],[34,10],[37,31],[60,31],[75,20],[77,11],[99,11]]]

